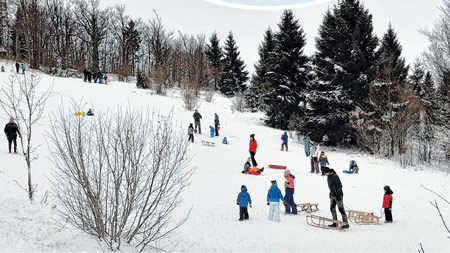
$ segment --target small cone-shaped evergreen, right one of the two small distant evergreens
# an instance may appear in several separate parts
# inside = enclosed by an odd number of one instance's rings
[[[220,92],[226,96],[233,96],[235,92],[243,93],[246,89],[248,72],[245,70],[244,61],[239,56],[238,47],[230,32],[225,42],[225,56],[222,61],[222,72],[220,76]]]

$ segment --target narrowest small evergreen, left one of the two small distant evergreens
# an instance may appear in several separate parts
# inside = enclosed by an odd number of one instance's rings
[[[220,72],[222,69],[223,52],[220,47],[220,39],[217,32],[214,32],[209,38],[209,44],[206,45],[206,56],[211,63],[212,76],[214,78],[214,89],[217,90],[217,85],[220,80]]]

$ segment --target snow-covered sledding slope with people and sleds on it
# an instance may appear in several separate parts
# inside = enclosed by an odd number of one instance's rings
[[[6,64],[0,62],[0,65]],[[0,82],[7,80],[12,65],[7,63],[7,73],[0,73]],[[119,105],[153,107],[167,113],[173,108],[174,118],[183,126],[193,122],[192,113],[183,108],[178,92],[169,96],[152,95],[134,84],[110,82],[109,85],[83,83],[80,79],[43,76],[42,90],[53,85],[53,94],[46,106],[46,115],[60,105],[67,106],[70,97],[83,99],[94,112],[114,110]],[[266,168],[262,176],[241,174],[248,157],[249,135],[258,141],[256,159],[261,166],[287,165],[296,176],[296,203],[319,204],[317,215],[331,217],[329,211],[326,177],[309,172],[309,159],[303,146],[290,139],[289,152],[280,151],[281,131],[263,126],[262,114],[233,113],[231,101],[216,95],[212,103],[203,101],[199,112],[203,116],[203,133],[195,136],[190,145],[191,166],[197,167],[191,186],[184,192],[184,202],[176,210],[181,219],[192,207],[189,220],[165,243],[177,251],[416,251],[422,243],[425,251],[450,251],[450,240],[436,210],[429,203],[435,197],[424,190],[424,185],[450,199],[450,177],[444,172],[421,167],[403,169],[394,161],[384,160],[350,150],[325,149],[342,181],[344,204],[354,210],[380,214],[383,186],[394,191],[393,224],[360,226],[350,224],[350,229],[338,232],[310,227],[305,213],[283,215],[281,222],[267,220],[267,190],[271,180],[283,186],[283,171]],[[220,138],[208,137],[208,126],[213,115],[220,116]],[[6,124],[7,118],[1,113]],[[46,116],[35,130],[35,143],[39,159],[33,163],[33,181],[38,184],[36,201],[30,203],[25,191],[26,165],[20,155],[7,153],[6,138],[0,145],[0,251],[101,251],[96,239],[69,225],[58,226],[53,211],[56,204],[50,195],[46,204],[40,200],[51,185],[48,177],[51,162],[44,132],[48,130]],[[186,131],[187,132],[187,131]],[[227,136],[230,144],[221,144]],[[186,136],[187,138],[187,136]],[[216,142],[216,147],[202,146],[200,140]],[[351,159],[358,162],[359,175],[341,173]],[[241,185],[246,185],[253,200],[249,209],[250,220],[238,221],[235,204]],[[283,191],[284,192],[284,191]],[[450,206],[438,199],[441,211],[450,222]],[[339,219],[341,218],[338,214]]]

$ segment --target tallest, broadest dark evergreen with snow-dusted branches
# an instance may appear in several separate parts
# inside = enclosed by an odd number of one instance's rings
[[[377,44],[372,15],[359,0],[339,1],[327,11],[316,38],[317,80],[309,87],[304,135],[331,145],[355,141],[350,114],[368,97]]]

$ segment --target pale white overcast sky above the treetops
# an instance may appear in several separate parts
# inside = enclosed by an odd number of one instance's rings
[[[204,33],[207,37],[217,31],[221,43],[230,30],[233,31],[239,46],[241,57],[247,69],[253,71],[253,63],[258,60],[257,48],[268,26],[276,29],[280,21],[281,10],[261,11],[236,9],[216,5],[206,0],[102,0],[103,6],[125,4],[132,18],[148,20],[154,17],[155,9],[164,25],[176,33]],[[317,29],[327,8],[337,0],[316,6],[295,9],[307,34],[305,52],[311,55],[315,51],[314,39]],[[418,32],[420,28],[432,27],[440,15],[438,7],[442,0],[362,0],[373,15],[374,28],[378,36],[387,29],[389,22],[397,31],[403,46],[403,54],[409,64],[427,46],[426,38]]]

